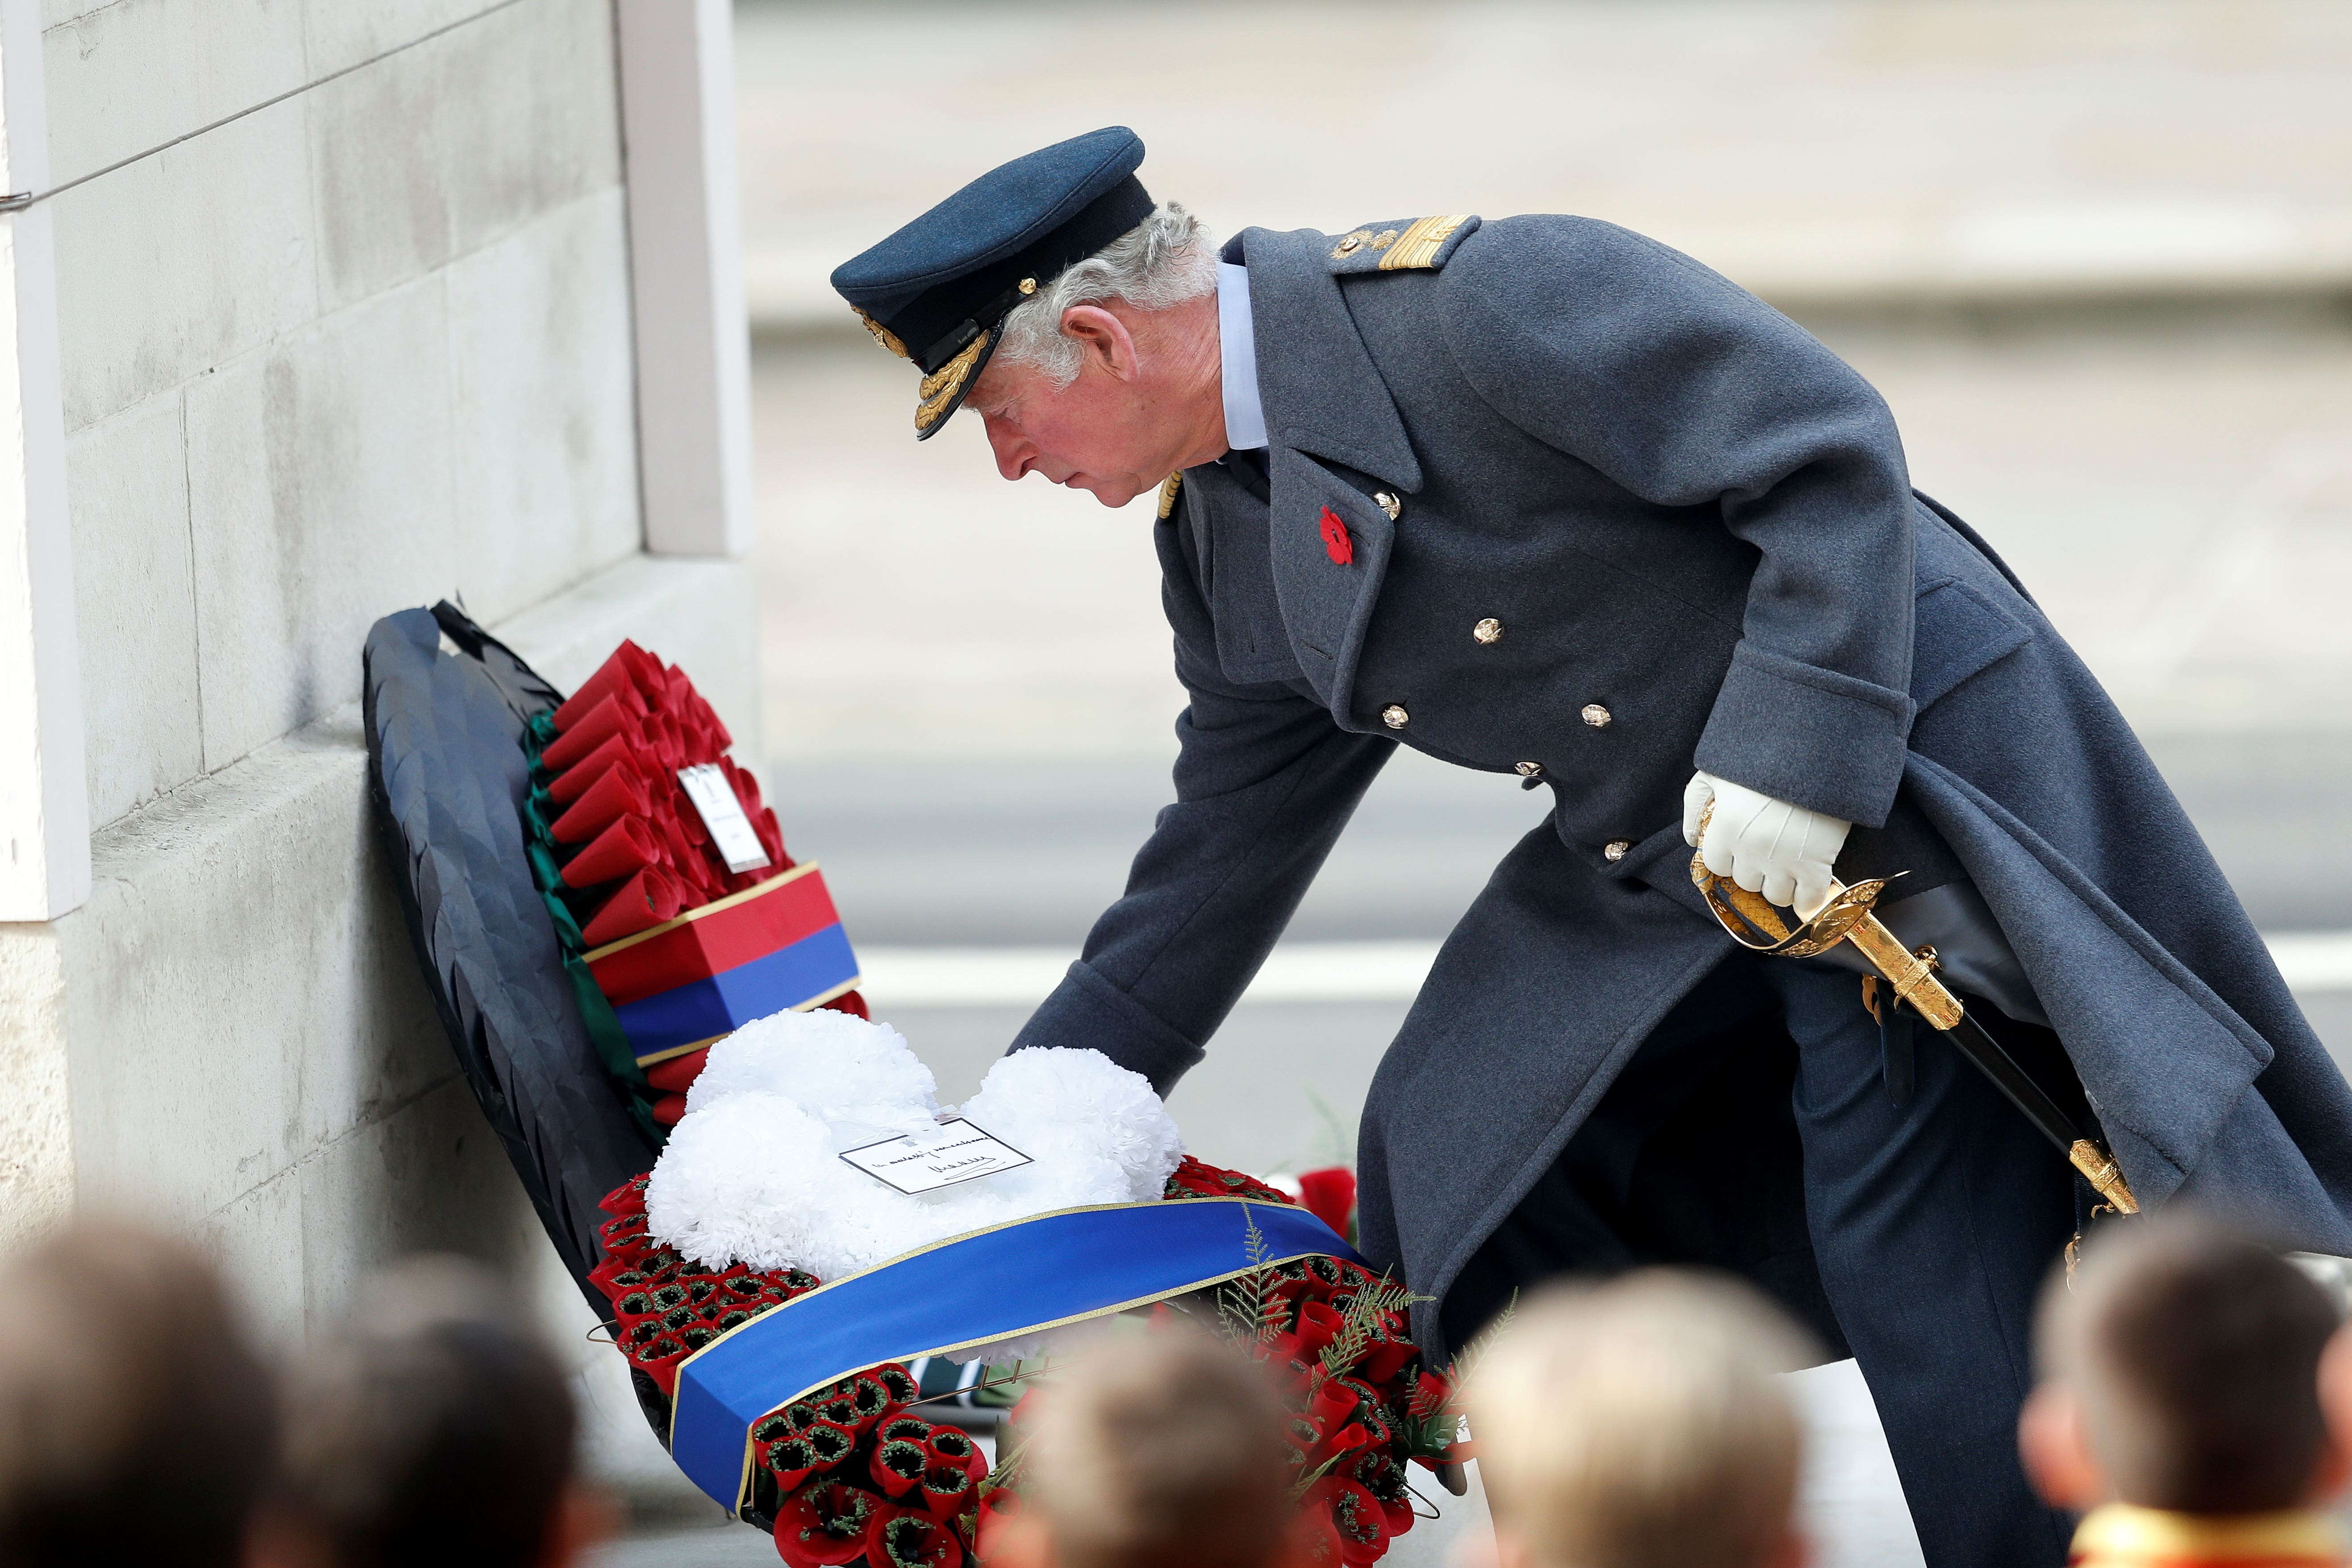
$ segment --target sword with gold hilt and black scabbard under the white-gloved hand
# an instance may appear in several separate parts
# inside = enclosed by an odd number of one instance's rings
[[[1936,950],[1922,947],[1912,952],[1872,912],[1879,893],[1886,891],[1884,877],[1877,882],[1856,882],[1853,886],[1832,877],[1830,900],[1811,919],[1802,919],[1795,926],[1762,893],[1750,893],[1729,877],[1710,872],[1705,856],[1691,856],[1691,882],[1698,884],[1708,907],[1715,910],[1717,924],[1733,943],[1750,952],[1776,959],[1809,959],[1839,943],[1860,952],[1877,971],[1877,978],[1893,990],[1893,997],[1886,1001],[1889,1009],[1910,1004],[1915,1013],[1952,1041],[1955,1051],[1992,1079],[1992,1086],[2025,1112],[2025,1119],[2044,1138],[2058,1145],[2067,1164],[2082,1171],[2082,1178],[2103,1199],[2122,1213],[2140,1213],[2138,1201],[2131,1197],[2131,1185],[2124,1180],[2124,1171],[2114,1164],[2114,1154],[2105,1140],[2093,1131],[2074,1126],[2074,1117],[2002,1048],[2002,1041],[1992,1039],[1985,1025],[1969,1018],[1959,997],[1936,978]],[[1795,910],[1788,914],[1795,917]]]

